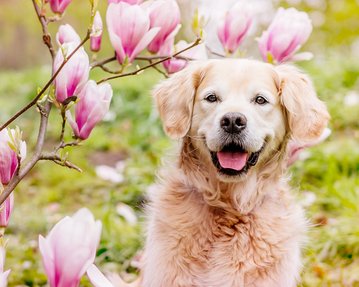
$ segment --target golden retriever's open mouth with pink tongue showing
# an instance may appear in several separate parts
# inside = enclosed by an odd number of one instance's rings
[[[217,169],[226,175],[239,175],[254,166],[259,158],[261,148],[257,152],[248,152],[237,144],[225,145],[220,151],[212,152],[212,161]]]

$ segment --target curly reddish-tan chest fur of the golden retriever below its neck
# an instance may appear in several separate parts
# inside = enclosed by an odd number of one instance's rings
[[[144,270],[144,286],[294,286],[305,220],[283,194],[235,215],[183,186],[165,189],[153,198],[146,250],[157,268],[146,269],[170,271],[146,281]]]

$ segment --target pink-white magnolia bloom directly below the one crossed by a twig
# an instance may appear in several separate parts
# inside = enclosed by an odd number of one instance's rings
[[[97,85],[95,81],[88,81],[81,90],[79,102],[75,107],[75,120],[70,111],[67,118],[77,138],[82,140],[90,136],[92,129],[100,122],[110,108],[112,88],[110,84]]]

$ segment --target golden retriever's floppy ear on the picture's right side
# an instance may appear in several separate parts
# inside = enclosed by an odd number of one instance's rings
[[[309,77],[290,65],[279,65],[279,96],[287,110],[291,137],[311,142],[320,137],[330,118],[325,104],[318,99]]]

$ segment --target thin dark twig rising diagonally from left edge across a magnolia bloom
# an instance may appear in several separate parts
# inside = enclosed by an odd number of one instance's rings
[[[33,0],[35,1],[35,0]],[[42,22],[41,22],[42,23]],[[13,115],[9,120],[6,121],[5,124],[3,124],[0,127],[0,131],[2,131],[4,128],[6,128],[9,124],[11,124],[14,120],[16,120],[20,115],[22,115],[24,112],[26,112],[28,109],[30,109],[33,105],[37,103],[37,101],[40,99],[40,97],[46,92],[46,90],[50,87],[52,82],[55,80],[57,75],[61,72],[62,68],[66,65],[66,63],[72,58],[72,56],[77,52],[78,49],[80,49],[87,40],[90,39],[90,31],[87,31],[86,37],[81,41],[81,43],[73,50],[68,57],[64,59],[60,67],[57,69],[57,71],[52,75],[50,80],[46,83],[46,85],[41,89],[41,91],[38,93],[38,95],[25,107],[23,107],[21,110],[19,110],[15,115]]]

